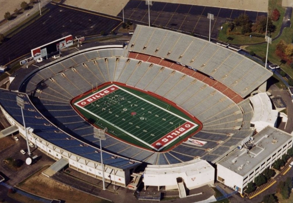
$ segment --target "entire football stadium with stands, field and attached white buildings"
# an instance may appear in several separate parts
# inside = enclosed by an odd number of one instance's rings
[[[18,91],[2,89],[1,110],[25,135],[23,99],[29,141],[93,178],[105,173],[106,182],[136,189],[143,175],[145,186],[184,197],[184,187],[213,184],[217,172],[243,193],[292,147],[275,128],[271,76],[229,48],[137,25],[126,45],[81,49],[28,74]],[[103,164],[94,128],[106,130]]]

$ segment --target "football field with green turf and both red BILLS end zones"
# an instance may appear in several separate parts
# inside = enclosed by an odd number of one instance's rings
[[[86,112],[91,117],[89,119],[96,120],[95,124],[105,128],[108,133],[115,136],[122,132],[129,137],[125,139],[126,142],[135,139],[156,151],[177,143],[176,140],[199,127],[191,119],[168,110],[169,104],[159,101],[162,105],[158,105],[144,97],[150,96],[138,96],[112,84],[90,93],[74,105]],[[167,108],[162,107],[164,105]]]

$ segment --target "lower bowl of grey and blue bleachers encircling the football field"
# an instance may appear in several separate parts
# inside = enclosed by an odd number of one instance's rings
[[[203,123],[203,129],[192,138],[205,140],[207,144],[198,147],[182,143],[169,152],[154,153],[107,136],[102,141],[105,150],[159,165],[186,162],[202,156],[212,162],[222,156],[224,151],[214,153],[212,149],[219,148],[220,143],[240,132],[243,114],[239,106],[218,90],[183,71],[119,57],[119,54],[126,55],[124,51],[89,51],[62,61],[61,65],[58,63],[46,67],[30,78],[25,91],[30,93],[31,101],[52,123],[78,139],[97,146],[93,127],[75,112],[70,104],[71,99],[109,81],[151,91],[196,116]],[[76,64],[77,61],[80,64]],[[237,139],[245,138],[247,133],[239,133]],[[229,147],[221,149],[228,150]]]

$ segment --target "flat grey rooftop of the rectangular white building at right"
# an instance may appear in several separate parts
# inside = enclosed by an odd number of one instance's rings
[[[245,176],[285,142],[292,139],[292,136],[282,130],[267,126],[253,138],[252,142],[255,146],[252,149],[247,150],[245,147],[235,149],[218,164]]]

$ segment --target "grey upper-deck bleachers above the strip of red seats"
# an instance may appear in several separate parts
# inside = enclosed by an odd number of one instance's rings
[[[165,58],[192,67],[225,84],[242,98],[272,76],[260,64],[228,48],[165,29],[138,25],[127,50],[146,54],[137,56],[139,60],[148,61],[151,55],[157,57],[151,59],[152,63]]]

